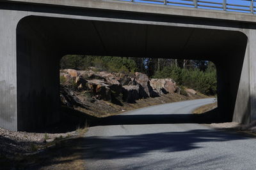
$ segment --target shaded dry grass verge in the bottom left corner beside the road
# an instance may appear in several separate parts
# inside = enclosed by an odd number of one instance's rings
[[[13,158],[0,156],[0,169],[84,169],[83,139],[79,136],[59,138],[47,145],[44,152]]]

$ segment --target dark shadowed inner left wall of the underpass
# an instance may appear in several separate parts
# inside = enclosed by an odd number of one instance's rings
[[[22,19],[17,26],[18,129],[42,129],[59,121],[59,58],[51,37]]]

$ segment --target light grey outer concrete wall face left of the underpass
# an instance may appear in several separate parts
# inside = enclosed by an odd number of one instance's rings
[[[0,126],[17,131],[16,26],[22,12],[0,10]]]

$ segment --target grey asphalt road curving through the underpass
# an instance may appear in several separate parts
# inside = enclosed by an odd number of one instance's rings
[[[150,106],[90,127],[84,139],[85,168],[256,169],[256,139],[187,121],[191,111],[212,102]],[[169,118],[176,121],[166,123]]]

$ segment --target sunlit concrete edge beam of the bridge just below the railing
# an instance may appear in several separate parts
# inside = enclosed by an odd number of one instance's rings
[[[100,10],[119,10],[138,13],[152,13],[162,15],[177,15],[184,17],[214,18],[223,20],[235,20],[241,22],[255,22],[255,16],[250,13],[237,13],[232,11],[216,11],[194,8],[182,8],[179,6],[164,6],[161,4],[131,3],[112,0],[2,0],[13,3],[48,4],[59,6],[72,6],[79,8],[93,8]]]

